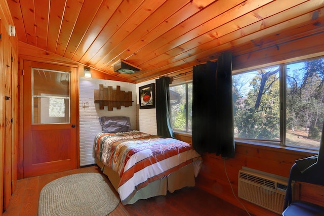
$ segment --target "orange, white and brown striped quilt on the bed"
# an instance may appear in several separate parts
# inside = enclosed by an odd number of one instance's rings
[[[201,166],[201,157],[191,145],[138,131],[98,133],[95,157],[119,175],[118,193],[123,204],[150,182],[192,162],[197,176]]]

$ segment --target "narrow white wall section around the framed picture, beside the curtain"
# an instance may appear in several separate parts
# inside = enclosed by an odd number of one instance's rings
[[[138,131],[157,135],[157,127],[156,127],[156,109],[139,109],[139,92],[138,88],[147,84],[155,83],[155,79],[151,79],[145,82],[140,82],[136,84],[136,104],[138,111]],[[155,97],[156,99],[156,97]],[[155,101],[156,105],[156,101]]]

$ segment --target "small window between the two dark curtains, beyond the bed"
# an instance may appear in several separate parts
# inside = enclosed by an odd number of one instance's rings
[[[191,133],[192,82],[174,85],[169,91],[172,128]]]

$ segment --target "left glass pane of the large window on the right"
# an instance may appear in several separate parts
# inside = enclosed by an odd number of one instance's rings
[[[280,140],[279,67],[233,75],[235,138]]]

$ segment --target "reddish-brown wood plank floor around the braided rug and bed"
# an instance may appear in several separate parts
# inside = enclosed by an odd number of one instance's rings
[[[69,171],[57,172],[44,176],[31,177],[18,180],[16,189],[4,216],[8,215],[37,215],[38,198],[42,188],[49,182],[72,174],[82,172],[98,172],[97,166],[88,166]],[[106,176],[103,175],[105,178]],[[107,184],[114,191],[109,180]],[[132,205],[123,206],[121,203],[108,214],[109,216],[136,216],[136,215],[248,215],[244,210],[219,199],[196,187],[183,188],[168,193],[167,196],[152,197],[139,200]]]

